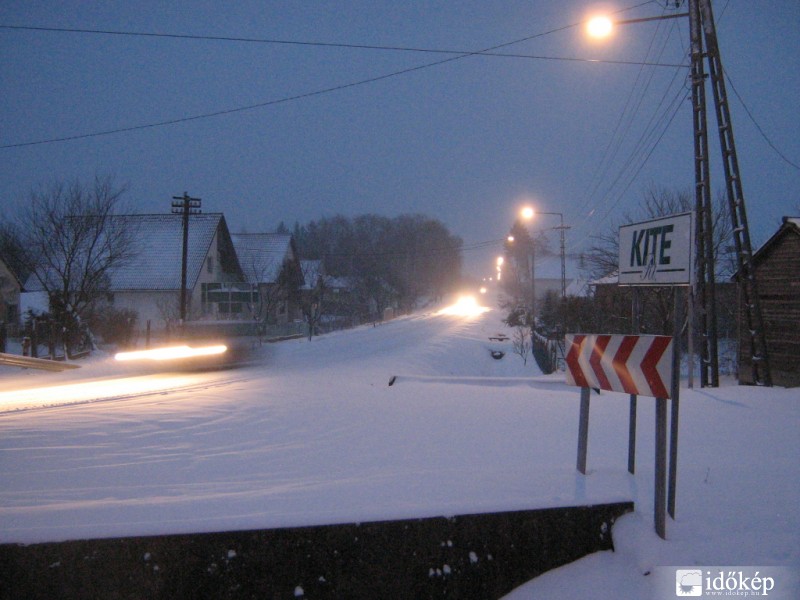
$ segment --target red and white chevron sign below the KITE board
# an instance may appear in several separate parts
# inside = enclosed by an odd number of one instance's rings
[[[672,337],[567,334],[567,384],[670,397]]]

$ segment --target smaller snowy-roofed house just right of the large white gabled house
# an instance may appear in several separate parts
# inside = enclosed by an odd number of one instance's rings
[[[303,273],[294,238],[284,233],[231,235],[244,281],[254,290],[253,318],[283,325],[300,319],[297,291]]]

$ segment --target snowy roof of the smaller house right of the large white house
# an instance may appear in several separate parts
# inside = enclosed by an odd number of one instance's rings
[[[284,260],[294,257],[288,233],[233,233],[231,239],[249,283],[275,283]]]

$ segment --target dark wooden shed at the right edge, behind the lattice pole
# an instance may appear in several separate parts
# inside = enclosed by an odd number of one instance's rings
[[[800,235],[787,231],[755,267],[774,385],[800,386]],[[739,381],[753,383],[745,312],[739,301]]]

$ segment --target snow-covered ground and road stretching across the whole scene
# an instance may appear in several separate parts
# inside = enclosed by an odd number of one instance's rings
[[[616,552],[510,598],[651,597],[661,566],[782,566],[779,583],[798,585],[800,391],[732,380],[682,390],[677,519],[663,541],[652,525],[654,403],[639,402],[631,476],[627,396],[593,395],[580,475],[579,391],[523,365],[510,341],[490,341],[510,333],[501,317],[430,310],[205,373],[0,368],[0,542],[633,500]]]

